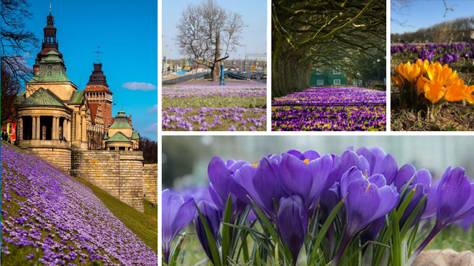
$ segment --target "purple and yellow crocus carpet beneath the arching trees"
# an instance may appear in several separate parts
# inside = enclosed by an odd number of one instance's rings
[[[385,131],[386,93],[310,88],[272,101],[272,131]]]

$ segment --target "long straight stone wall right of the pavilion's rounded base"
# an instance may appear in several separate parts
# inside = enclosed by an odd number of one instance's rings
[[[73,150],[71,175],[88,180],[143,213],[143,153]]]

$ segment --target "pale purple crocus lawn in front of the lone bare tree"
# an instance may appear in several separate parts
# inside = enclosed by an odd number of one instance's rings
[[[192,81],[163,87],[163,131],[266,131],[266,85]]]

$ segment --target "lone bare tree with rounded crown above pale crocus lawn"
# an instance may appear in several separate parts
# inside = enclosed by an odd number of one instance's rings
[[[211,68],[213,81],[220,72],[220,62],[229,57],[230,47],[240,46],[241,33],[246,25],[240,14],[218,6],[216,0],[189,4],[181,13],[176,26],[176,44],[181,54],[196,63]]]

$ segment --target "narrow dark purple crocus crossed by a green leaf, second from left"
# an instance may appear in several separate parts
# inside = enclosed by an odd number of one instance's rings
[[[218,243],[219,227],[221,227],[221,215],[219,211],[216,209],[216,207],[214,207],[214,205],[208,203],[205,200],[201,201],[198,204],[198,208],[199,210],[201,210],[201,213],[203,214],[204,219],[206,220],[209,230],[211,230],[212,232],[214,240],[216,241],[216,243]],[[206,230],[204,229],[203,222],[201,221],[199,215],[196,215],[194,222],[196,223],[196,234],[198,235],[199,242],[201,242],[201,246],[203,247],[204,252],[206,252],[206,255],[208,256],[209,260],[211,260],[211,262],[214,262],[211,254],[211,248],[209,247],[208,238],[206,236]]]

